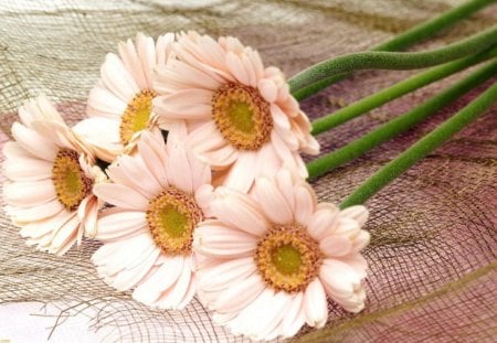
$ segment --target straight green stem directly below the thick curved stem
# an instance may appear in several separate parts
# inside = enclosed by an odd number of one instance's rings
[[[413,92],[435,81],[457,73],[474,64],[497,55],[497,46],[478,55],[473,55],[455,62],[450,62],[441,66],[433,67],[426,72],[416,74],[408,79],[401,81],[388,88],[384,88],[373,95],[364,97],[347,107],[343,107],[326,117],[319,118],[313,122],[313,135],[319,135],[331,128],[335,128],[350,119],[353,119],[373,108],[392,101],[404,94]]]

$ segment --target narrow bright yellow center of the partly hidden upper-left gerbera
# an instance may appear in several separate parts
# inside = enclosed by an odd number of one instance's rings
[[[147,128],[155,96],[154,90],[144,89],[126,107],[119,127],[120,140],[124,144],[129,143],[136,132]]]

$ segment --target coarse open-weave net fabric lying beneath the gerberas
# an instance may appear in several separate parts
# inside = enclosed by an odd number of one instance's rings
[[[39,94],[74,124],[98,78],[105,53],[141,31],[198,30],[235,35],[267,65],[290,76],[329,56],[367,50],[463,0],[311,1],[0,1],[0,126],[8,140],[17,108]],[[497,21],[491,6],[414,49],[453,42]],[[311,118],[413,72],[360,72],[302,104]],[[464,73],[463,73],[464,74]],[[405,112],[462,75],[420,89],[319,136],[329,152]],[[496,78],[493,79],[496,82]],[[487,83],[488,86],[490,83]],[[483,89],[483,87],[482,87]],[[482,90],[479,89],[479,90]],[[338,203],[368,175],[462,108],[473,92],[431,120],[314,182],[320,201]],[[368,202],[371,245],[368,301],[359,314],[329,303],[325,329],[302,342],[490,342],[497,326],[497,108],[417,163]],[[184,311],[158,311],[98,279],[85,242],[63,258],[24,245],[0,217],[0,303],[56,302],[61,315],[91,315],[105,342],[248,341],[214,325],[195,299]],[[65,304],[65,306],[64,306]]]

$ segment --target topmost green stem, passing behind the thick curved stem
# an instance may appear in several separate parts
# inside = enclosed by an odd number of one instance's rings
[[[395,35],[393,39],[381,43],[380,45],[373,46],[372,51],[400,51],[404,50],[415,43],[426,40],[427,37],[434,35],[435,33],[447,29],[454,24],[456,24],[459,20],[472,15],[473,13],[479,11],[486,6],[490,6],[497,2],[497,0],[470,0],[459,7],[451,9],[441,15],[424,21],[408,31]],[[300,88],[293,93],[297,100],[303,100],[308,98],[309,96],[318,93],[321,89],[325,89],[329,85],[343,79],[350,74],[335,75],[328,78],[325,78],[318,83],[315,83],[310,86]]]

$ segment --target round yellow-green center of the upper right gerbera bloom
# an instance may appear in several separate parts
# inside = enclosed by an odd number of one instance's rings
[[[236,149],[258,150],[271,138],[269,104],[253,87],[221,86],[212,97],[212,117],[224,139]]]

